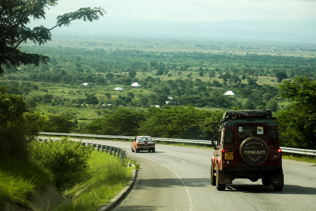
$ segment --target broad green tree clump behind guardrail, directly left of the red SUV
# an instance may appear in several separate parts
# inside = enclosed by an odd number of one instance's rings
[[[184,106],[148,108],[146,121],[138,129],[139,135],[174,139],[212,140],[223,112]]]

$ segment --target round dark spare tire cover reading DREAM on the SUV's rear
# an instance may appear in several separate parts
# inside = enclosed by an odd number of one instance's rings
[[[239,154],[247,164],[259,165],[268,158],[269,148],[262,138],[251,136],[240,144]]]

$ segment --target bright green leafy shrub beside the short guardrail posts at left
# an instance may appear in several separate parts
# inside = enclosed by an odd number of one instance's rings
[[[33,141],[29,146],[31,159],[52,172],[57,187],[69,178],[65,177],[67,174],[88,168],[88,159],[93,150],[92,146],[82,146],[81,142],[67,138]]]

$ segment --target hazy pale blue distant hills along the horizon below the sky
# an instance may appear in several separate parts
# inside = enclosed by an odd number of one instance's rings
[[[48,15],[46,21],[41,20],[30,26],[42,24],[50,28],[56,23],[56,17]],[[316,42],[315,26],[316,20],[297,22],[250,20],[176,22],[104,16],[94,22],[75,21],[69,28],[55,28],[52,33],[205,40]]]

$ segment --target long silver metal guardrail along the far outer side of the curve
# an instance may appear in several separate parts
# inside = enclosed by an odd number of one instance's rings
[[[91,135],[91,134],[75,134],[75,133],[46,133],[40,132],[42,135],[58,135],[58,136],[78,136],[78,137],[94,137],[94,138],[104,138],[107,139],[134,139],[135,136],[112,136],[112,135]],[[190,139],[166,139],[166,138],[153,138],[154,141],[169,141],[169,142],[182,142],[182,143],[194,143],[194,144],[205,144],[205,145],[214,145],[216,141],[208,141],[208,140],[190,140]],[[288,147],[280,147],[282,152],[293,153],[293,154],[302,154],[302,155],[312,155],[316,156],[316,150],[307,150],[307,149],[297,149],[297,148],[288,148]]]

